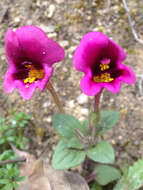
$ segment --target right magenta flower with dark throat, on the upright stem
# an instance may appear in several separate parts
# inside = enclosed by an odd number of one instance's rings
[[[125,52],[114,41],[100,32],[84,35],[74,53],[74,66],[84,72],[81,89],[88,96],[94,96],[106,88],[112,93],[120,91],[121,82],[133,84],[133,71],[122,64]]]

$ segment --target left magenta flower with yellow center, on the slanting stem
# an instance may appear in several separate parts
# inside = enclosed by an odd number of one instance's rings
[[[46,87],[52,65],[64,58],[63,48],[36,26],[23,26],[15,32],[8,30],[5,37],[9,69],[4,77],[4,89],[15,88],[28,100],[36,88]]]

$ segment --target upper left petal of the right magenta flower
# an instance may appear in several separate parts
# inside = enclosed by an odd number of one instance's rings
[[[108,46],[108,38],[100,32],[85,34],[74,53],[74,66],[78,71],[86,72],[86,69],[98,63],[100,57]]]

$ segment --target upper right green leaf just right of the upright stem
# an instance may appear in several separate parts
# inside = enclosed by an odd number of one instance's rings
[[[100,121],[97,126],[97,133],[106,133],[114,127],[120,119],[120,113],[112,110],[104,110],[100,112]]]

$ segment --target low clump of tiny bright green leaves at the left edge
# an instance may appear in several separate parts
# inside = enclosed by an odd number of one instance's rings
[[[3,164],[3,161],[17,158],[10,147],[11,143],[23,149],[28,140],[24,137],[23,128],[28,124],[29,119],[30,116],[24,112],[15,113],[9,120],[0,118],[0,150],[2,150],[0,152],[0,189],[14,190],[18,187],[18,182],[24,179],[20,177],[16,163]]]

